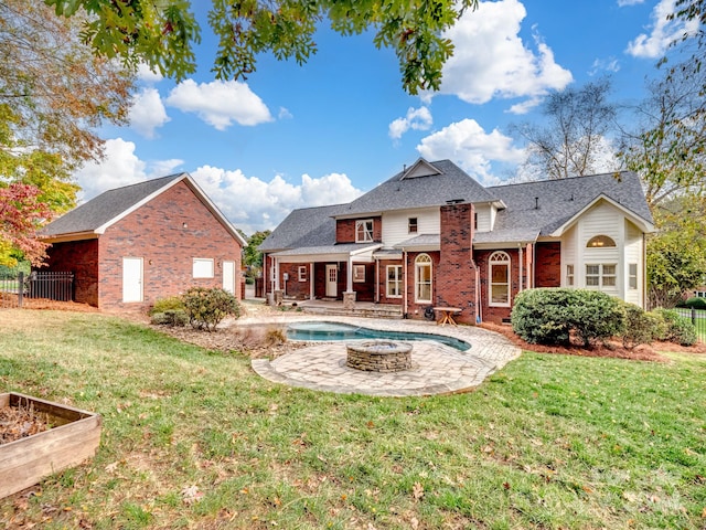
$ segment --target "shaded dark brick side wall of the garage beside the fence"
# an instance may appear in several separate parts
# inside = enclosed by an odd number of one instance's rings
[[[54,243],[46,271],[74,273],[74,301],[98,306],[98,240]]]

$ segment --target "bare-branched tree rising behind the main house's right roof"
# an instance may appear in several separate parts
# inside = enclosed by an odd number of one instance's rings
[[[605,170],[606,135],[616,105],[608,100],[610,81],[552,93],[542,107],[546,125],[515,124],[512,131],[527,144],[525,169],[538,178],[564,179]]]

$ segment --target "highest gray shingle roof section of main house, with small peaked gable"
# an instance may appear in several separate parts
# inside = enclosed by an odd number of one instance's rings
[[[372,189],[347,205],[341,215],[385,212],[413,208],[439,206],[447,201],[491,202],[496,200],[486,190],[450,160],[429,162],[440,174],[403,179],[400,171],[392,179]]]

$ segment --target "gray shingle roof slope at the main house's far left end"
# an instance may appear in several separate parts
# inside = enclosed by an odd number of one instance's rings
[[[335,244],[335,220],[347,204],[293,210],[260,244],[263,252]]]

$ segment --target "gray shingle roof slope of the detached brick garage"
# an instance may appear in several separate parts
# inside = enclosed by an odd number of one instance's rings
[[[64,234],[93,232],[143,199],[147,199],[156,191],[186,176],[186,173],[175,173],[169,177],[106,191],[51,222],[40,231],[40,235],[52,237]]]

